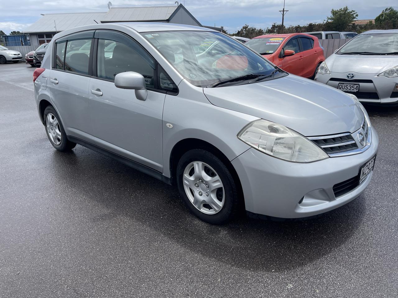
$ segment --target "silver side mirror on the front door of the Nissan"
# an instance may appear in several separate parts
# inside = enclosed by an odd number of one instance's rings
[[[137,72],[121,72],[115,76],[115,86],[121,89],[134,89],[135,97],[140,101],[146,100],[148,90],[146,90],[145,79],[142,74]]]

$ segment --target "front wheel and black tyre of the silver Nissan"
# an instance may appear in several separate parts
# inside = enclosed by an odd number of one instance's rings
[[[213,153],[193,149],[177,165],[179,194],[188,209],[202,221],[223,224],[238,210],[238,190],[228,167]]]

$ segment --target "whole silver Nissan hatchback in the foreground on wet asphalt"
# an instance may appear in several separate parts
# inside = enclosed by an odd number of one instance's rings
[[[318,215],[358,197],[372,178],[378,136],[355,95],[288,74],[211,29],[62,31],[33,81],[55,149],[77,143],[176,184],[209,223],[243,209]]]

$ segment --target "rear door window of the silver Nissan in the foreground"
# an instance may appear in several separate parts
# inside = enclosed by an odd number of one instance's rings
[[[81,49],[83,46],[88,49]],[[66,43],[65,70],[78,74],[88,74],[90,60],[90,47],[92,39],[72,40]]]

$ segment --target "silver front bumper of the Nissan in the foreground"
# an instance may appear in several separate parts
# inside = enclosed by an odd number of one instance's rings
[[[359,186],[338,197],[333,186],[356,177],[377,150],[378,135],[372,128],[371,146],[360,154],[292,163],[251,148],[232,164],[242,184],[246,211],[292,219],[318,215],[358,197],[369,185],[373,172]]]

